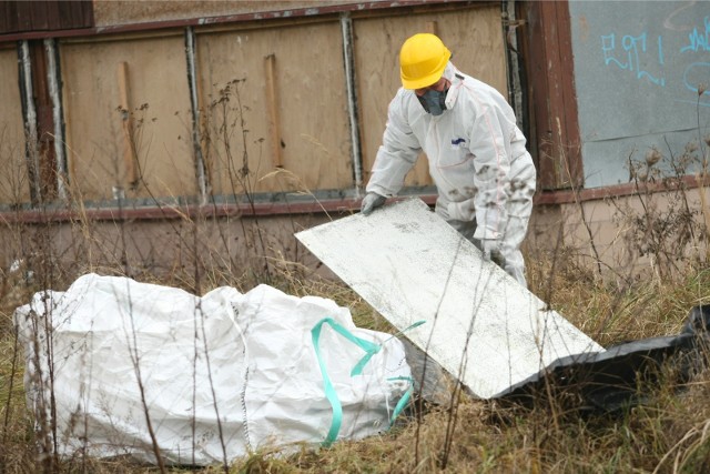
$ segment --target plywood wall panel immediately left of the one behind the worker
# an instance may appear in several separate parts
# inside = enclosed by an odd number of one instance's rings
[[[196,30],[196,43],[213,193],[353,186],[337,20],[268,30]],[[226,95],[230,101],[220,102]],[[227,128],[221,129],[225,111]],[[282,171],[274,175],[277,168]],[[253,174],[245,177],[246,169]]]

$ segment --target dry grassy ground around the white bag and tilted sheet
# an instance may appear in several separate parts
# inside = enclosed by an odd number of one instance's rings
[[[560,314],[604,346],[673,335],[690,309],[710,300],[710,271],[693,270],[673,281],[639,281],[618,288],[569,266],[549,275],[545,255],[529,259],[530,288],[547,294]],[[71,275],[65,276],[68,284]],[[22,354],[11,316],[40,284],[6,279],[0,299],[0,466],[2,472],[158,472],[128,460],[77,457],[48,463],[24,404]],[[180,279],[175,279],[179,281]],[[164,282],[174,284],[174,281]],[[234,282],[242,285],[250,282]],[[390,327],[352,290],[327,280],[284,273],[275,284],[291,294],[313,294],[348,306],[359,326]],[[57,288],[61,289],[61,288]],[[255,453],[229,467],[248,473],[671,473],[710,472],[710,376],[697,374],[682,390],[671,384],[642,387],[643,405],[613,415],[564,412],[555,400],[534,407],[477,401],[460,395],[453,409],[427,406],[381,436],[307,448],[288,457]],[[187,472],[187,470],[175,470]],[[200,472],[225,472],[224,466]]]

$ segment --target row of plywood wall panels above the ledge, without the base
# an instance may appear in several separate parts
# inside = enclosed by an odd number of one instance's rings
[[[300,16],[275,10],[277,18],[261,19],[254,13],[282,3],[171,2],[174,8],[168,9],[164,2],[97,2],[97,24],[130,23],[130,31],[98,33],[99,28],[30,40],[30,54],[52,57],[44,53],[50,41],[58,56],[57,70],[30,58],[47,67],[36,74],[36,88],[47,87],[52,74],[61,84],[60,100],[47,99],[50,113],[41,114],[51,119],[59,107],[53,103],[61,102],[64,137],[58,141],[65,148],[68,183],[67,194],[58,198],[89,206],[116,205],[120,198],[125,205],[145,206],[156,200],[268,202],[284,193],[312,201],[310,195],[356,196],[369,178],[386,109],[399,87],[398,48],[419,31],[439,33],[462,70],[507,94],[496,2],[365,11],[341,11],[343,2],[332,2]],[[326,8],[336,10],[320,14]],[[234,17],[197,21],[227,10]],[[186,17],[196,23],[169,21]],[[352,51],[354,99],[346,50]],[[3,59],[2,73],[17,84],[12,52]],[[18,103],[19,88],[7,91]],[[3,109],[0,115],[16,112]],[[55,130],[39,134],[53,140]],[[13,145],[22,147],[22,140]],[[53,155],[39,159],[42,170],[57,167]],[[41,178],[57,181],[45,174]],[[424,160],[407,184],[432,184]],[[42,198],[31,204],[60,203],[53,195]],[[29,200],[28,193],[16,193],[0,206],[30,206]]]

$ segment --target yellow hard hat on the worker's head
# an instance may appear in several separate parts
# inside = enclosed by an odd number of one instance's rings
[[[442,78],[452,52],[432,33],[408,38],[399,51],[399,74],[405,89],[422,89]]]

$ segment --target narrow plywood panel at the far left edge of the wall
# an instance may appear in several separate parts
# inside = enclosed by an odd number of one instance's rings
[[[30,184],[16,49],[0,50],[0,203],[26,203],[30,201]]]

